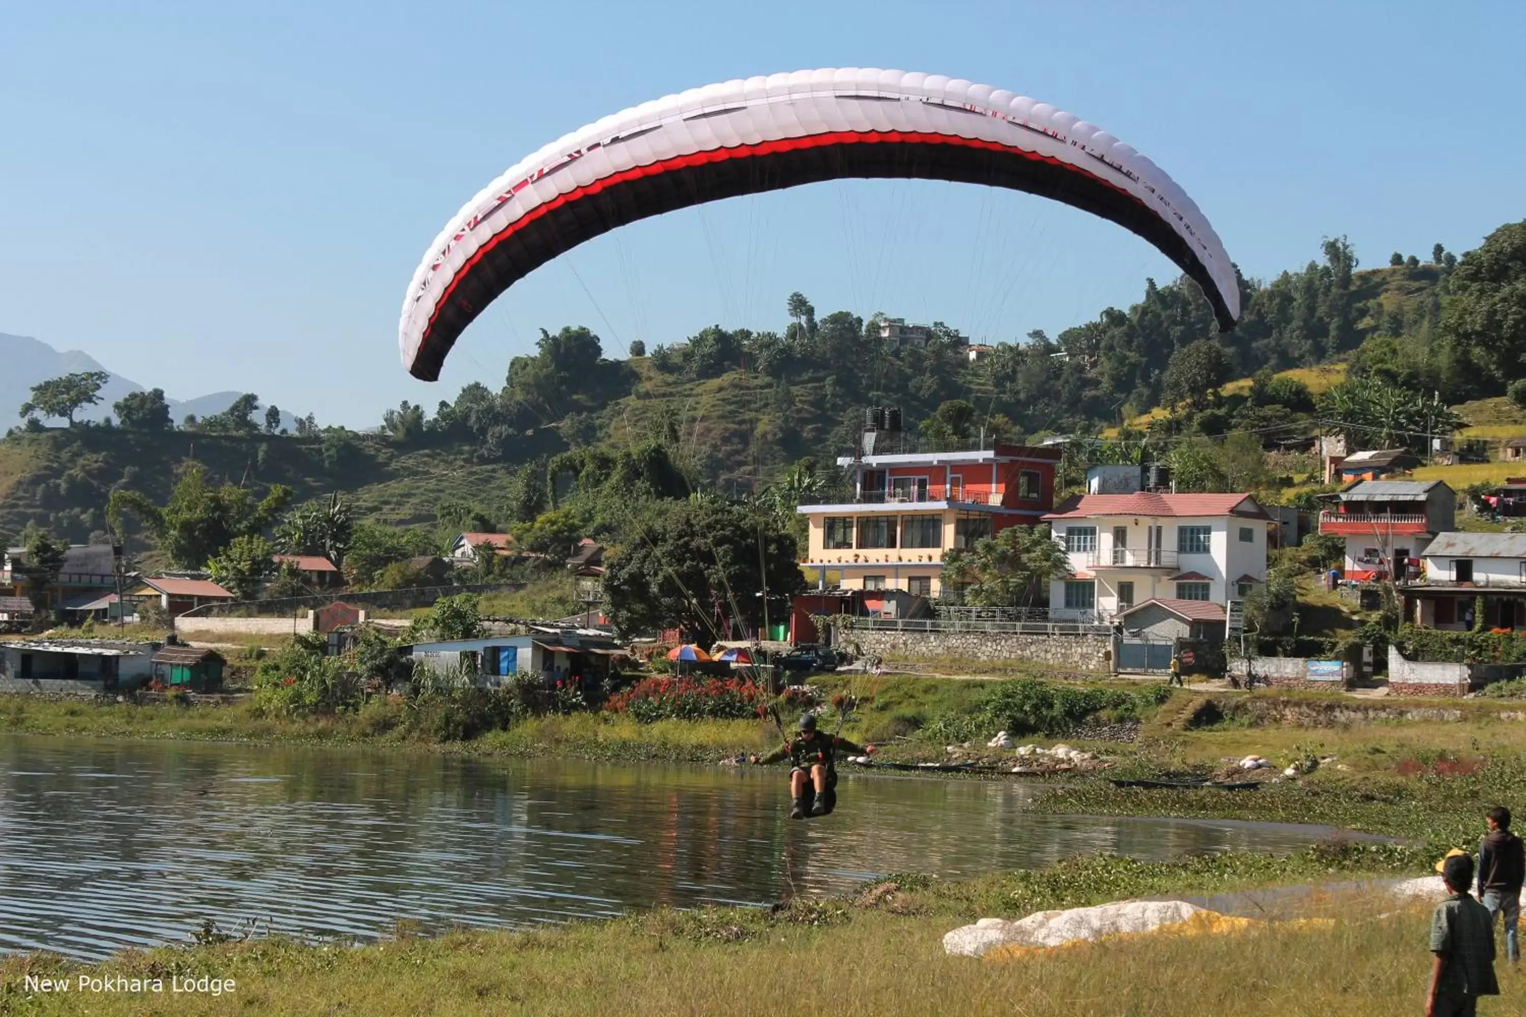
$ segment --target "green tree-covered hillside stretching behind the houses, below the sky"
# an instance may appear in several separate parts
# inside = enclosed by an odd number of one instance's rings
[[[105,540],[114,502],[137,509],[113,515],[128,544],[169,563],[180,555],[150,506],[168,506],[191,476],[249,505],[279,491],[282,506],[311,509],[342,492],[362,531],[432,534],[369,534],[391,547],[366,558],[377,569],[458,525],[513,529],[548,552],[618,541],[641,506],[674,499],[783,505],[789,529],[806,489],[835,482],[829,464],[853,447],[865,406],[900,407],[903,441],[942,447],[1106,435],[1071,453],[1071,480],[1088,462],[1169,454],[1189,488],[1268,489],[1286,479],[1265,454],[1282,439],[1346,428],[1358,444],[1415,445],[1468,422],[1459,403],[1526,403],[1526,224],[1460,258],[1437,244],[1427,261],[1389,261],[1361,268],[1343,238],[1328,239],[1296,271],[1242,279],[1245,314],[1225,335],[1193,284],[1148,281],[1128,308],[980,358],[943,322],[891,348],[882,316],[818,314],[800,293],[781,300],[778,328],[636,340],[627,358],[568,326],[542,331],[501,384],[472,383],[433,409],[403,403],[375,433],[311,416],[288,428],[255,393],[174,425],[159,389],[118,399],[105,421],[79,419],[102,378],[64,375],[34,389],[24,424],[0,442],[0,535]],[[1335,366],[1311,371],[1322,364]],[[272,521],[229,531],[217,550],[269,538]]]

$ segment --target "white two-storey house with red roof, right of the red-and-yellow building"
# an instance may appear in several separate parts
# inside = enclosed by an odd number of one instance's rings
[[[1070,578],[1050,585],[1059,619],[1152,604],[1202,628],[1267,581],[1270,517],[1248,494],[1080,494],[1044,518],[1070,557]]]

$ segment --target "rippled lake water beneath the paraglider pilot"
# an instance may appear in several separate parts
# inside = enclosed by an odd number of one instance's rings
[[[101,958],[226,930],[371,938],[757,904],[885,872],[1109,851],[1293,849],[1312,826],[1033,816],[1021,784],[844,773],[792,822],[786,770],[0,735],[0,951]]]

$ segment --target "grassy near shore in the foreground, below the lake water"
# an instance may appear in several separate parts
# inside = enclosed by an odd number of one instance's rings
[[[1144,936],[1019,962],[943,953],[945,932],[1129,897],[1193,897],[1416,871],[1396,845],[1315,845],[1286,857],[1224,854],[1146,865],[1076,858],[940,883],[891,877],[852,898],[774,909],[659,909],[523,932],[401,935],[360,948],[272,938],[125,951],[102,964],[0,959],[0,1012],[15,1014],[586,1014],[842,1012],[1392,1014],[1421,991],[1425,907],[1326,900],[1329,927],[1267,924],[1233,936]],[[1332,910],[1334,909],[1334,910]],[[1102,958],[1106,962],[1100,962]],[[1503,968],[1503,965],[1502,965]],[[27,993],[26,977],[163,979],[162,993]],[[171,979],[223,979],[223,996]],[[1505,991],[1521,979],[1502,971]],[[1491,1011],[1492,1012],[1492,1011]]]

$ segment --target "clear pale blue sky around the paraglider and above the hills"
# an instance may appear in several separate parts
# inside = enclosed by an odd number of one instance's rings
[[[1175,268],[1027,195],[844,181],[688,209],[536,271],[439,383],[397,357],[407,281],[488,180],[670,91],[874,66],[1012,88],[1151,156],[1250,276],[1344,233],[1363,264],[1521,218],[1520,3],[53,3],[0,27],[0,331],[188,398],[374,425],[502,384],[537,329],[604,349],[711,323],[942,319],[1050,334]],[[0,364],[0,371],[3,371]]]

